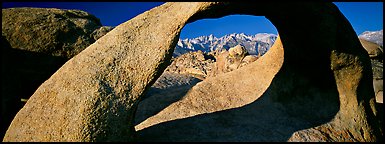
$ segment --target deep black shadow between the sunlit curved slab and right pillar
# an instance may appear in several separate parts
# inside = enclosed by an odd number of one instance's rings
[[[137,131],[138,141],[287,141],[297,131],[330,122],[340,110],[339,92],[330,68],[332,47],[328,42],[333,39],[326,39],[322,26],[309,27],[298,23],[300,19],[268,19],[284,34],[285,58],[261,97],[240,108],[145,128]],[[316,35],[301,37],[309,32]]]

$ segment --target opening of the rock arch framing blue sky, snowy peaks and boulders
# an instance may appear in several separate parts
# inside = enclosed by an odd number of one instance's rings
[[[240,28],[244,26],[247,28]],[[203,27],[206,27],[205,30]],[[188,32],[193,34],[186,34]],[[266,18],[252,15],[229,15],[195,21],[182,29],[181,36],[183,37],[179,38],[175,47],[171,65],[141,99],[135,115],[135,125],[182,99],[202,80],[255,62],[277,39],[275,27]],[[242,52],[238,52],[239,56],[229,55],[229,49],[235,49],[237,45],[243,48]]]

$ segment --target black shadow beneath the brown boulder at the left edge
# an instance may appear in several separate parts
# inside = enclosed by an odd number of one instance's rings
[[[1,38],[1,138],[35,90],[68,59],[11,48]]]

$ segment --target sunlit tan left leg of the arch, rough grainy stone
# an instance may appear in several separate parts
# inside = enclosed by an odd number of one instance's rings
[[[170,64],[171,47],[197,9],[169,3],[115,27],[37,89],[4,141],[132,139],[138,99]]]

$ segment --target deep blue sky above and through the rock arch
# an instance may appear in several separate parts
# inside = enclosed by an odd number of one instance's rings
[[[100,19],[103,25],[117,26],[162,2],[3,2],[2,8],[43,7],[80,9]],[[383,29],[383,2],[334,2],[352,24],[357,34]],[[187,24],[181,38],[214,34],[221,37],[230,33],[277,33],[263,16],[231,15],[218,19],[203,19]]]

